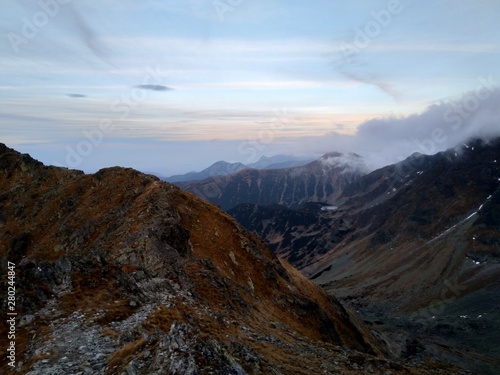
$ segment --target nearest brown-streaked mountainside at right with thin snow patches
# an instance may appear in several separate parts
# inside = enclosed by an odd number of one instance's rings
[[[500,140],[423,160],[427,167],[393,179],[406,182],[389,199],[358,199],[352,232],[304,272],[357,309],[409,318],[409,342],[420,340],[424,353],[445,345],[453,349],[441,358],[496,374]]]

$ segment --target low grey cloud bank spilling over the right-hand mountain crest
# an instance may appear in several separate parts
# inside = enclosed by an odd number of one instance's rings
[[[367,159],[370,169],[376,169],[414,152],[432,155],[471,138],[500,137],[500,87],[491,85],[491,77],[489,82],[480,81],[477,90],[432,104],[422,113],[374,118],[362,123],[353,135],[331,132],[305,137],[296,140],[294,148],[317,155],[356,152]]]

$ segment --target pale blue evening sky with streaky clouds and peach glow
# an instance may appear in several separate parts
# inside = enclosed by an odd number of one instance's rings
[[[164,176],[500,135],[497,0],[3,0],[0,142]]]

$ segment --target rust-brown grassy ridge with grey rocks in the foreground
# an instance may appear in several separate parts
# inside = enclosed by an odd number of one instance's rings
[[[230,216],[155,177],[45,167],[0,145],[0,191],[21,373],[410,373]]]

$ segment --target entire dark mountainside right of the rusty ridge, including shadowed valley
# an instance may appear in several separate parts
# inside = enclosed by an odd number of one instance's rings
[[[499,139],[471,140],[358,176],[334,199],[299,208],[247,203],[229,213],[406,345],[401,355],[495,374],[499,163]]]

